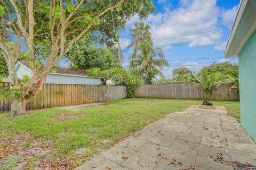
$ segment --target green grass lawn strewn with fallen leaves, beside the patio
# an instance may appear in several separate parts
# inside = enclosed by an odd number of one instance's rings
[[[201,102],[122,99],[78,111],[49,108],[14,118],[3,113],[0,114],[0,169],[1,164],[11,169],[18,163],[27,168],[43,165],[74,168],[166,114]],[[214,104],[225,106],[239,118],[238,102],[214,101]],[[77,150],[83,150],[83,154],[77,154]],[[14,156],[10,157],[10,153]]]

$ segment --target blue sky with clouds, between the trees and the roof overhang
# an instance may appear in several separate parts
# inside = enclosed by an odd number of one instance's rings
[[[171,78],[172,69],[187,66],[198,72],[203,65],[213,62],[231,61],[224,59],[223,53],[229,37],[230,29],[239,6],[239,0],[153,0],[157,11],[150,14],[143,22],[150,25],[155,47],[161,47],[165,52],[169,68],[162,70],[166,78]],[[132,49],[127,49],[131,42],[129,30],[135,22],[141,21],[139,16],[133,16],[126,24],[125,30],[119,30],[123,66],[129,65]],[[212,58],[210,60],[192,60],[193,58]],[[221,58],[215,58],[221,57]],[[65,61],[61,66],[67,65]],[[196,65],[196,66],[194,66]]]

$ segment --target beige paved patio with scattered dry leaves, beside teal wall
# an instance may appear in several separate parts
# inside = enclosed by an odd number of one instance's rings
[[[188,108],[167,115],[77,169],[234,169],[256,166],[256,145],[226,111]]]

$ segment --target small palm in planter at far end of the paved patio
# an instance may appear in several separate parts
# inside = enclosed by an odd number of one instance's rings
[[[202,74],[199,78],[196,78],[193,75],[195,82],[197,82],[199,86],[202,87],[202,89],[204,90],[207,101],[210,100],[213,92],[217,90],[220,84],[226,82],[226,80],[218,81],[220,79],[220,76],[221,75],[219,72],[208,74],[205,69],[202,70]]]

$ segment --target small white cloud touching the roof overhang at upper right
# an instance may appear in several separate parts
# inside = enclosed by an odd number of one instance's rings
[[[222,23],[227,25],[228,28],[231,28],[234,23],[238,7],[239,5],[236,5],[228,10],[221,10]]]

